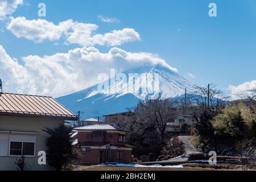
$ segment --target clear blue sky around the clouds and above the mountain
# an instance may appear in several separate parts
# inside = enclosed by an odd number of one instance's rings
[[[46,17],[38,17],[40,2],[46,4]],[[217,5],[217,17],[208,16],[210,2]],[[98,15],[115,17],[121,22],[101,22]],[[188,73],[192,73],[195,78],[189,79],[197,84],[215,83],[225,90],[229,85],[256,80],[255,0],[26,0],[8,16],[0,20],[0,45],[21,65],[24,64],[20,59],[23,56],[54,55],[82,46],[64,44],[64,38],[42,43],[17,38],[6,29],[10,16],[24,16],[27,20],[46,19],[55,24],[68,19],[97,24],[98,34],[133,28],[141,40],[115,47],[128,52],[158,54],[177,68],[181,76],[189,78]],[[94,47],[101,52],[108,52],[111,48],[97,44]],[[239,89],[247,88],[243,85]]]

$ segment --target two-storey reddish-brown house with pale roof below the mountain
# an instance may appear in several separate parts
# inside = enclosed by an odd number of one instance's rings
[[[76,148],[82,164],[130,163],[133,146],[126,144],[127,131],[110,125],[77,127]]]

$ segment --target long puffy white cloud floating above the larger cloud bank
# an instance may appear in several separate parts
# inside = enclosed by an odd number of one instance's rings
[[[44,40],[59,40],[62,36],[67,38],[66,43],[80,46],[119,46],[141,40],[140,35],[133,28],[95,34],[97,28],[96,24],[73,22],[71,19],[56,25],[44,19],[27,20],[25,17],[11,18],[7,25],[7,30],[13,32],[16,37],[39,43]]]

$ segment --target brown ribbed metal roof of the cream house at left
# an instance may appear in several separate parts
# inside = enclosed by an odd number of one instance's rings
[[[0,93],[0,114],[56,117],[77,120],[77,116],[52,97]]]

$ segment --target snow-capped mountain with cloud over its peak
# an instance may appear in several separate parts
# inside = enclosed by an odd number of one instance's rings
[[[139,100],[181,96],[185,88],[192,90],[193,86],[166,66],[146,65],[57,100],[74,113],[84,111],[82,119],[85,119],[127,111],[137,106]]]

